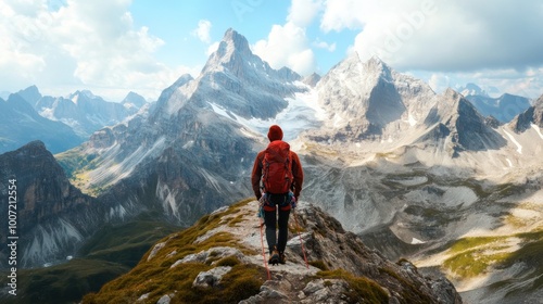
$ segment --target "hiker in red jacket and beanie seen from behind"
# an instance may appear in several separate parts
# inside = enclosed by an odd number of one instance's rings
[[[296,153],[290,151],[290,145],[282,141],[281,128],[277,125],[270,126],[267,136],[269,144],[256,155],[251,182],[254,195],[264,210],[266,241],[270,255],[268,263],[274,265],[286,263],[290,210],[295,207],[300,198],[304,174]],[[264,192],[261,191],[261,181]],[[279,228],[277,238],[276,224]]]

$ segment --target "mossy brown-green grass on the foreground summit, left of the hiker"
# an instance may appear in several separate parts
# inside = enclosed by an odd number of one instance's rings
[[[141,262],[128,274],[106,283],[99,293],[84,297],[83,303],[134,303],[147,294],[147,303],[156,303],[164,294],[176,290],[173,303],[237,303],[242,299],[258,293],[264,283],[264,269],[260,266],[241,264],[237,258],[225,257],[211,259],[209,263],[186,263],[182,266],[171,266],[184,256],[209,250],[215,246],[232,246],[241,251],[240,244],[227,232],[219,232],[205,241],[194,244],[194,241],[209,230],[217,227],[225,215],[238,211],[238,206],[249,201],[232,205],[225,212],[203,216],[195,225],[178,233],[161,240],[165,246],[152,259],[147,261],[152,250],[149,250]],[[232,219],[233,221],[237,218]],[[212,262],[217,262],[213,266]],[[216,266],[231,266],[225,276],[228,284],[219,289],[191,288],[195,276]],[[160,278],[159,280],[156,278]]]

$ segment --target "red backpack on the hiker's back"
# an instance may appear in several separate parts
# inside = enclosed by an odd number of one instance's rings
[[[282,140],[272,141],[262,161],[262,181],[267,193],[287,193],[293,180],[290,144]]]

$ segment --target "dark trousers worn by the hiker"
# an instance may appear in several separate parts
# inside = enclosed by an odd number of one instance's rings
[[[278,216],[279,215],[279,216]],[[264,212],[264,224],[266,225],[266,241],[268,243],[269,254],[277,245],[279,253],[285,252],[287,248],[287,240],[289,237],[289,215],[290,207],[287,211],[282,211],[280,206],[276,205],[275,211]],[[279,236],[277,237],[277,229],[279,229]]]

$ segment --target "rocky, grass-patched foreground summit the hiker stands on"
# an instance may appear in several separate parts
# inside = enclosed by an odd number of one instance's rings
[[[202,217],[83,303],[462,303],[445,278],[388,261],[312,204],[291,213],[287,263],[266,265],[257,210],[245,200]]]

